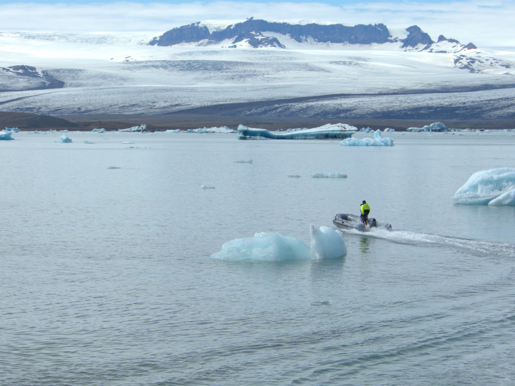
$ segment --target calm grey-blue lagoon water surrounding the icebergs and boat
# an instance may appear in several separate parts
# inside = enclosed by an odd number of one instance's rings
[[[0,141],[3,386],[515,384],[515,207],[452,199],[515,136],[67,136]],[[394,230],[345,258],[209,257],[363,199]]]

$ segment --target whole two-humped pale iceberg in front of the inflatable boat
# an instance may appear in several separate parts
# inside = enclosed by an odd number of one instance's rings
[[[256,233],[254,237],[236,238],[225,243],[211,258],[230,261],[282,261],[332,259],[347,254],[340,231],[311,224],[310,233],[311,248],[296,237],[262,232]]]

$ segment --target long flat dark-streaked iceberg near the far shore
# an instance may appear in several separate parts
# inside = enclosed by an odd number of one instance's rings
[[[264,128],[252,128],[244,125],[238,126],[239,138],[264,137],[271,139],[339,139],[349,138],[357,132],[357,128],[346,123],[328,123],[315,128],[304,128],[286,131],[270,132]]]

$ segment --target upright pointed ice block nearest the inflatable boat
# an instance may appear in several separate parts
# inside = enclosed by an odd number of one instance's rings
[[[310,226],[311,258],[334,259],[347,254],[343,234],[329,227]]]

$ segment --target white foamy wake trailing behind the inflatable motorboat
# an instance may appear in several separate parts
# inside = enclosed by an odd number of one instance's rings
[[[467,238],[441,236],[437,234],[409,231],[386,231],[372,229],[370,232],[359,232],[355,229],[342,230],[348,234],[359,234],[382,238],[394,243],[416,245],[421,247],[446,247],[475,256],[498,255],[515,258],[515,244],[469,240]]]

